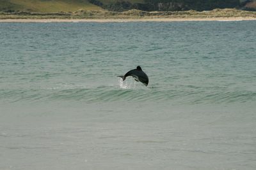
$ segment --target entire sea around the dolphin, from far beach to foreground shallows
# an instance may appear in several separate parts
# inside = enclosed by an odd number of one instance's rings
[[[0,169],[256,169],[255,27],[0,23]]]

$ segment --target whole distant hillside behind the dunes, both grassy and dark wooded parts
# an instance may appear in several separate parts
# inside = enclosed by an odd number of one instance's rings
[[[39,13],[77,10],[205,11],[216,8],[256,10],[256,1],[247,0],[0,0],[0,11]]]

